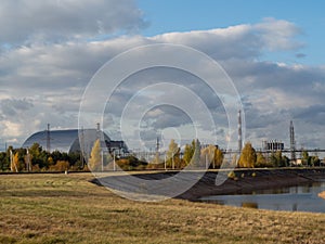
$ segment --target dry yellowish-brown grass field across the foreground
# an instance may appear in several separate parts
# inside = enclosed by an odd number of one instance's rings
[[[0,243],[325,243],[325,214],[132,202],[91,179],[0,176]]]

